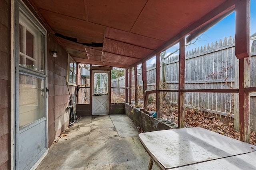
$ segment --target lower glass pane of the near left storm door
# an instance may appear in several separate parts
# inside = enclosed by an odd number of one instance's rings
[[[44,117],[44,80],[20,74],[19,127]]]

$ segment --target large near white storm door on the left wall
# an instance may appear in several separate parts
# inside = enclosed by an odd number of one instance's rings
[[[46,30],[16,2],[14,169],[32,169],[48,150]]]

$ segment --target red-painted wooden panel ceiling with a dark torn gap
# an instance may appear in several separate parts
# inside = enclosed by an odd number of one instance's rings
[[[79,63],[134,66],[230,9],[234,0],[29,0]]]

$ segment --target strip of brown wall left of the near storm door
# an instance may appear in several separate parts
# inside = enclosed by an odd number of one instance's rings
[[[0,0],[0,169],[10,169],[11,1]],[[3,64],[4,63],[4,64]]]

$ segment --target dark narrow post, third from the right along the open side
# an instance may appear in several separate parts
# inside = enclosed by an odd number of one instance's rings
[[[156,115],[159,119],[161,117],[160,111],[160,53],[156,54]]]

